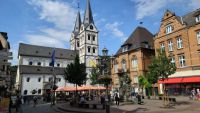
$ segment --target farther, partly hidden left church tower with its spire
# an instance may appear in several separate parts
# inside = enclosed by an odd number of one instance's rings
[[[80,42],[79,42],[79,32],[80,32],[80,27],[81,27],[81,16],[80,12],[77,12],[76,16],[76,22],[74,26],[74,30],[71,33],[71,38],[70,38],[70,48],[71,50],[79,50],[80,47]]]

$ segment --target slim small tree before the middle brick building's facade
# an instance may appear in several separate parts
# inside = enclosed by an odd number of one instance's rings
[[[119,77],[120,89],[126,101],[128,101],[128,96],[129,96],[128,94],[130,94],[130,90],[131,90],[131,78],[128,73],[129,71],[127,71],[126,73],[123,73]]]

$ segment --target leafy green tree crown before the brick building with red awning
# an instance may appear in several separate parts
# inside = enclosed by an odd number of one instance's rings
[[[158,56],[153,58],[147,75],[147,79],[151,84],[157,83],[158,79],[168,78],[176,71],[176,66],[167,58],[165,51],[157,50],[157,52]]]

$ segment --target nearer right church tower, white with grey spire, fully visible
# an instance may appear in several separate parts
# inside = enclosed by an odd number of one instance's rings
[[[84,20],[80,26],[78,38],[80,62],[86,64],[86,72],[89,77],[92,67],[96,64],[96,58],[99,50],[98,30],[94,24],[90,0],[87,0]],[[89,82],[87,82],[87,84],[88,83]]]

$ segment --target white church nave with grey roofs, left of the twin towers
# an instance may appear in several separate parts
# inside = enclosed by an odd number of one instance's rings
[[[51,65],[53,49],[51,47],[19,44],[16,87],[21,91],[21,95],[50,95],[54,75],[58,87],[72,86],[64,79],[64,69],[68,64],[74,62],[78,51],[55,48],[53,69]],[[33,90],[36,92],[33,93]]]

